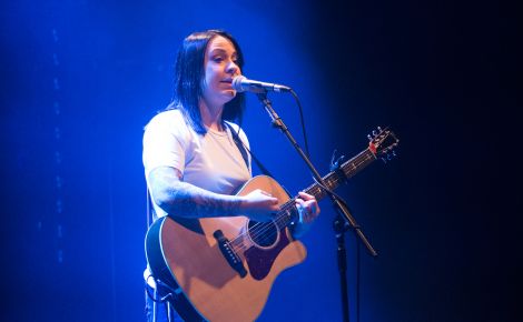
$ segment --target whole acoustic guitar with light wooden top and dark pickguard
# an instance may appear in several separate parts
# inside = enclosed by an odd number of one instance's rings
[[[369,135],[368,148],[304,191],[318,201],[374,160],[387,159],[398,144],[387,129]],[[326,188],[326,189],[325,189]],[[304,261],[306,249],[289,228],[297,220],[295,198],[274,179],[258,175],[238,195],[262,189],[276,197],[272,222],[246,217],[184,219],[164,217],[146,235],[152,276],[171,289],[176,311],[186,321],[254,321],[262,313],[278,274]]]

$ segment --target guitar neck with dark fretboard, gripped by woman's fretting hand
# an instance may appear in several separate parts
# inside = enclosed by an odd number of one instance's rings
[[[347,179],[352,178],[368,164],[371,164],[374,160],[376,160],[375,153],[369,149],[365,149],[356,157],[352,158],[351,160],[344,162],[339,170],[333,171],[327,175],[323,177],[323,182],[325,188],[333,191],[339,184],[345,182]],[[323,199],[327,195],[327,191],[323,189],[318,183],[313,183],[310,187],[304,190],[306,193],[312,194],[316,198],[316,200]],[[295,199],[290,199],[284,205],[282,205],[282,210],[277,215],[276,223],[279,229],[283,229],[290,224],[296,219],[296,207],[295,207]]]

